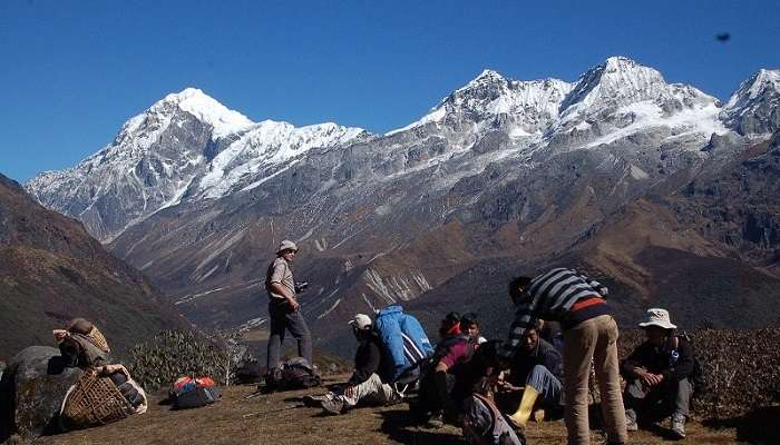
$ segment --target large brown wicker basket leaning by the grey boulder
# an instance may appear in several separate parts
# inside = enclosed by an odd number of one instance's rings
[[[62,419],[69,428],[88,428],[121,421],[131,411],[109,377],[88,370],[68,394]]]

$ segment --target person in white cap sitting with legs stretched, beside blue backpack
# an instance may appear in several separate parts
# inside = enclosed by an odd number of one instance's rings
[[[343,394],[328,393],[322,396],[322,409],[329,414],[341,414],[360,402],[380,405],[400,402],[401,395],[379,375],[382,369],[382,345],[372,329],[371,318],[358,314],[350,325],[360,344],[354,355],[354,373],[347,382]]]

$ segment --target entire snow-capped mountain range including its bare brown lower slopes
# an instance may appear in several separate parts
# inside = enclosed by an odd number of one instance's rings
[[[28,189],[111,240],[207,326],[260,323],[259,268],[281,238],[294,239],[303,246],[296,274],[316,283],[304,312],[324,328],[470,283],[464,274],[474,268],[494,276],[479,269],[493,261],[545,265],[596,239],[632,202],[676,194],[701,171],[718,176],[777,129],[777,71],[759,75],[722,107],[620,57],[572,83],[486,70],[382,136],[253,123],[172,100]],[[725,255],[686,243],[673,247]],[[626,286],[644,288],[646,265],[625,264],[636,251],[604,255],[603,267],[632,270]]]

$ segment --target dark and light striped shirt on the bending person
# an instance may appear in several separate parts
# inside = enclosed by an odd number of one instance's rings
[[[607,288],[595,279],[574,270],[558,268],[530,280],[525,297],[517,305],[509,338],[501,346],[501,355],[511,357],[526,328],[535,319],[562,322],[572,305],[581,298],[604,298]]]

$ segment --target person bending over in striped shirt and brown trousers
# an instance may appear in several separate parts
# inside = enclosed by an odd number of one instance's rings
[[[617,359],[617,324],[610,315],[607,288],[595,279],[556,268],[534,279],[509,284],[515,320],[501,355],[513,357],[526,329],[536,319],[560,323],[564,329],[564,418],[569,445],[587,445],[588,376],[593,360],[602,396],[602,414],[610,444],[627,441]],[[516,413],[517,414],[517,413]]]

